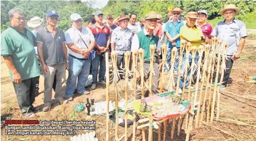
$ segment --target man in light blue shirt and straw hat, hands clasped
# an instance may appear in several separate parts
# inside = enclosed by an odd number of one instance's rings
[[[173,47],[179,47],[181,46],[181,39],[179,37],[179,32],[181,30],[181,27],[184,26],[183,22],[179,21],[179,16],[183,13],[181,9],[178,7],[175,7],[173,10],[171,10],[171,14],[173,15],[173,19],[166,23],[164,32],[166,32],[166,36],[168,37],[167,45],[168,45],[168,52],[166,57],[166,67],[164,68],[164,72],[168,72],[168,68],[171,63],[171,50]],[[174,64],[174,73],[177,74],[178,69],[178,58],[179,53],[177,52],[176,55],[176,62]]]

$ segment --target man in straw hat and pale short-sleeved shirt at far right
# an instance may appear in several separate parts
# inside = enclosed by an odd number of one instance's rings
[[[245,24],[242,21],[235,19],[235,16],[239,12],[240,9],[238,9],[235,4],[228,4],[224,6],[224,8],[220,10],[220,14],[225,19],[218,22],[211,33],[211,35],[217,37],[218,40],[228,43],[228,60],[226,62],[227,69],[225,70],[223,84],[221,85],[223,89],[225,89],[228,78],[230,77],[233,61],[241,57],[241,52],[245,45],[245,37],[247,37]],[[216,52],[218,52],[218,48],[216,48]]]

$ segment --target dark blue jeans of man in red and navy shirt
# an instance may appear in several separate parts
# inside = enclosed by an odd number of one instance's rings
[[[95,54],[95,58],[92,61],[92,83],[97,83],[97,74],[100,66],[99,72],[99,82],[102,82],[105,77],[106,72],[106,64],[105,64],[105,57],[99,56]]]

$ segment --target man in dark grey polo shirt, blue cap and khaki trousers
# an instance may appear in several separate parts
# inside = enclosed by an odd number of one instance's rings
[[[57,28],[60,18],[58,12],[50,10],[46,13],[48,26],[40,29],[36,36],[38,56],[45,77],[45,99],[43,111],[51,108],[53,79],[56,74],[55,100],[58,104],[67,104],[65,95],[66,69],[68,69],[65,34]]]

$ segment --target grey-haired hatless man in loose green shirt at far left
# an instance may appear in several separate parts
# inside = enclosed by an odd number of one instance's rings
[[[33,107],[36,94],[36,78],[41,74],[36,59],[36,39],[25,28],[25,16],[20,9],[8,12],[11,26],[1,34],[1,56],[9,69],[21,113],[35,117]]]

